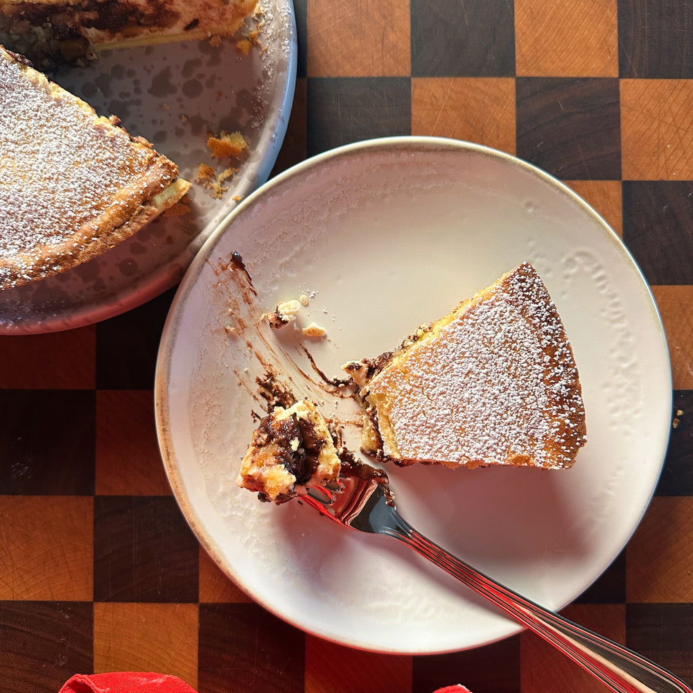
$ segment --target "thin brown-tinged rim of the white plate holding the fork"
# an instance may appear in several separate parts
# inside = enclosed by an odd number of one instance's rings
[[[586,211],[586,213],[588,213],[588,216],[593,218],[593,220],[597,222],[597,224],[600,227],[602,227],[602,231],[604,232],[606,238],[608,238],[608,240],[613,245],[615,245],[615,247],[617,247],[618,251],[623,254],[624,261],[627,261],[627,263],[630,265],[630,269],[634,271],[635,277],[637,277],[638,282],[641,285],[641,288],[644,289],[644,296],[647,298],[647,307],[651,310],[651,320],[653,322],[653,326],[656,326],[657,328],[657,333],[661,341],[660,356],[663,358],[663,361],[660,365],[662,367],[665,367],[665,371],[668,376],[667,383],[663,384],[663,388],[665,388],[666,391],[669,392],[669,404],[673,403],[672,364],[667,348],[667,338],[664,331],[663,322],[660,316],[660,311],[654,299],[651,287],[649,286],[647,279],[644,277],[642,269],[635,261],[635,258],[633,258],[633,255],[626,247],[626,245],[623,243],[622,239],[616,234],[616,232],[611,228],[611,226],[608,225],[608,222],[606,222],[606,220],[604,220],[604,218],[601,215],[599,215],[599,213],[595,211],[595,209],[593,209],[593,207],[591,207],[591,205],[588,202],[586,202],[584,198],[581,198],[580,195],[573,191],[572,188],[564,184],[560,179],[557,179],[550,173],[547,173],[545,170],[538,168],[537,166],[534,166],[534,164],[531,164],[528,161],[520,159],[519,157],[511,155],[507,152],[503,152],[501,150],[497,150],[482,144],[447,137],[432,137],[422,135],[398,135],[392,137],[378,137],[374,139],[366,139],[362,141],[348,143],[333,148],[331,150],[326,150],[325,152],[320,152],[317,155],[313,155],[312,157],[308,157],[303,161],[294,164],[290,168],[287,168],[286,170],[279,173],[277,176],[265,182],[265,184],[263,184],[262,186],[256,188],[256,190],[253,193],[251,193],[247,198],[245,198],[242,202],[240,202],[240,204],[238,204],[237,207],[229,211],[229,214],[210,234],[209,238],[205,241],[204,245],[202,245],[200,251],[195,256],[193,263],[191,263],[191,265],[188,267],[188,270],[186,271],[184,278],[180,283],[179,288],[177,289],[173,302],[170,306],[170,310],[166,317],[164,330],[161,334],[159,352],[157,354],[154,385],[155,421],[157,427],[157,439],[159,440],[159,448],[161,451],[161,458],[164,464],[166,475],[168,477],[168,481],[170,483],[176,502],[179,505],[182,514],[186,519],[186,522],[191,527],[191,530],[195,534],[196,538],[198,538],[200,545],[202,545],[204,550],[207,551],[207,553],[209,554],[211,559],[213,559],[214,563],[218,566],[218,568],[222,570],[222,572],[225,572],[225,574],[227,574],[228,577],[233,579],[236,582],[236,584],[238,584],[238,578],[235,576],[234,571],[231,570],[228,566],[226,566],[225,562],[221,558],[222,550],[220,549],[220,544],[218,543],[218,541],[216,541],[216,539],[213,536],[211,536],[206,531],[204,522],[202,521],[200,516],[198,516],[198,513],[195,511],[194,504],[191,501],[191,498],[188,495],[186,489],[184,488],[184,484],[182,484],[181,478],[179,477],[177,471],[177,460],[175,459],[173,450],[170,450],[168,448],[168,445],[170,445],[171,442],[170,438],[164,435],[164,433],[167,430],[170,430],[168,428],[169,419],[167,402],[168,384],[170,382],[170,370],[168,369],[168,367],[170,366],[170,353],[172,353],[172,350],[175,348],[175,340],[172,340],[172,337],[173,335],[175,335],[177,331],[177,325],[179,323],[180,317],[180,309],[184,304],[186,296],[195,285],[195,281],[198,277],[198,274],[200,273],[200,267],[207,262],[207,258],[209,258],[209,256],[212,254],[213,249],[220,241],[220,238],[222,238],[222,236],[225,233],[227,233],[228,229],[233,226],[236,217],[242,215],[245,209],[247,209],[248,207],[252,207],[252,205],[258,198],[264,197],[268,194],[272,194],[274,188],[282,186],[283,184],[286,184],[286,182],[290,182],[293,178],[297,176],[300,177],[306,173],[309,173],[312,170],[319,168],[320,166],[323,166],[324,164],[334,164],[336,161],[339,161],[339,159],[342,157],[348,157],[354,154],[364,154],[367,152],[377,150],[401,150],[403,148],[423,148],[426,150],[430,150],[430,148],[434,148],[435,150],[464,150],[465,152],[475,152],[496,159],[502,159],[507,164],[523,168],[527,173],[530,173],[531,175],[534,175],[542,179],[543,182],[550,184],[551,186],[554,186],[558,189],[558,191],[560,191],[563,195],[569,198],[572,204],[577,204],[578,207]],[[660,462],[658,466],[656,466],[656,468],[653,467],[653,469],[656,469],[656,473],[655,471],[653,471],[652,473],[653,484],[651,486],[651,489],[649,490],[649,494],[647,494],[646,502],[644,502],[642,508],[640,509],[640,513],[638,514],[637,519],[633,523],[633,526],[630,527],[629,530],[625,533],[622,544],[620,545],[620,549],[617,552],[615,552],[615,554],[613,554],[613,556],[611,556],[611,558],[608,559],[608,561],[606,561],[606,563],[598,569],[598,572],[595,575],[595,577],[588,584],[586,584],[584,588],[582,588],[579,591],[579,593],[570,597],[570,599],[568,599],[564,604],[561,604],[560,607],[557,607],[556,611],[558,611],[559,608],[563,608],[563,606],[572,603],[574,599],[576,599],[580,594],[584,593],[585,590],[588,590],[588,588],[590,588],[590,586],[597,579],[599,579],[599,577],[601,577],[601,575],[604,573],[604,570],[606,570],[609,567],[609,565],[611,565],[611,563],[613,563],[613,561],[617,558],[620,552],[624,550],[627,543],[629,543],[630,539],[635,533],[635,530],[640,525],[645,512],[651,504],[651,500],[658,485],[658,480],[663,471],[667,445],[669,437],[671,435],[671,428],[668,427],[666,430],[663,429],[662,433],[665,435],[663,435],[661,439],[660,450],[658,453],[658,459],[660,458]],[[238,586],[241,589],[243,589],[243,586],[241,586],[240,584]],[[286,616],[282,615],[281,611],[277,609],[276,605],[268,604],[266,600],[259,599],[254,595],[250,596],[255,602],[261,604],[261,606],[266,608],[267,611],[270,611],[271,613],[277,615],[277,617],[286,620]],[[512,626],[512,623],[509,623],[510,626]],[[515,635],[516,633],[519,633],[525,629],[525,626],[515,624],[515,627],[509,627],[507,633],[499,635],[498,638],[494,638],[493,640],[486,640],[484,642],[479,642],[478,644],[471,644],[465,647],[455,647],[453,649],[412,648],[410,650],[405,651],[403,649],[398,648],[388,649],[387,647],[369,647],[363,644],[362,642],[356,640],[355,638],[335,638],[335,636],[328,631],[321,632],[318,629],[309,630],[306,629],[304,626],[296,624],[295,622],[292,622],[292,624],[298,627],[299,629],[304,630],[306,633],[311,633],[325,640],[330,640],[331,642],[336,642],[338,644],[344,644],[348,647],[364,649],[366,651],[410,656],[441,654],[453,651],[475,649],[476,647],[482,647],[486,644],[491,644],[492,642],[505,640],[505,638],[511,637],[511,635]]]

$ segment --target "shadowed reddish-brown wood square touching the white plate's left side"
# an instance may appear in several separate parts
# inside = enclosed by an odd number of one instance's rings
[[[96,392],[96,493],[170,495],[150,390]]]

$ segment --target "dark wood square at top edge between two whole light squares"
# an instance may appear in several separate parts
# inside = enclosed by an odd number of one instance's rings
[[[412,0],[413,77],[512,77],[515,15],[508,0]]]

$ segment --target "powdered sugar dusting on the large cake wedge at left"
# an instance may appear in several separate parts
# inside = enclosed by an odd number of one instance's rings
[[[152,156],[134,147],[124,130],[98,122],[80,100],[40,73],[27,74],[3,52],[0,133],[2,283],[10,271],[3,258],[40,258],[42,245],[73,236],[139,179]]]

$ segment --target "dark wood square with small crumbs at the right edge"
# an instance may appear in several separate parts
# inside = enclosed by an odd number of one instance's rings
[[[674,391],[672,432],[656,493],[693,495],[693,390]]]

